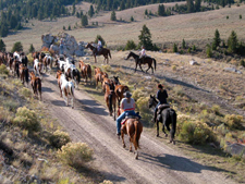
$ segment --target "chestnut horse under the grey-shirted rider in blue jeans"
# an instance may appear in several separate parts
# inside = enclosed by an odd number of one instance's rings
[[[119,109],[118,115],[120,115],[122,112],[123,110]],[[134,145],[134,148],[135,148],[135,154],[136,154],[135,159],[138,159],[137,149],[139,148],[139,138],[140,138],[142,132],[143,132],[143,124],[138,118],[126,118],[125,120],[122,121],[121,137],[122,137],[123,148],[126,147],[124,142],[124,134],[127,134],[130,136],[130,151],[132,151],[132,144]]]

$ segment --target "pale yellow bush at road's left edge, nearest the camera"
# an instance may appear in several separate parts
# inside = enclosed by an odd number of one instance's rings
[[[57,154],[64,163],[74,168],[84,167],[93,158],[93,150],[85,143],[68,143]]]

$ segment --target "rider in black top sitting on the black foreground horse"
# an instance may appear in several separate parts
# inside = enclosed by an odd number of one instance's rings
[[[167,103],[167,98],[168,98],[168,93],[166,89],[163,89],[163,85],[158,84],[158,91],[157,91],[158,105],[156,106],[155,111],[154,111],[154,119],[152,119],[154,122],[157,121],[158,107],[160,105]]]

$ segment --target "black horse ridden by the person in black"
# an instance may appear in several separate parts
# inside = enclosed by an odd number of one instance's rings
[[[149,108],[156,107],[157,103],[158,103],[158,101],[155,98],[155,96],[150,95]],[[161,110],[160,114],[158,112],[158,116],[157,116],[157,136],[159,136],[159,122],[162,122],[162,132],[166,134],[166,137],[168,136],[168,134],[164,131],[164,126],[167,127],[167,130],[171,134],[170,143],[175,144],[174,134],[175,134],[175,131],[176,131],[176,112],[172,108],[170,108],[169,106],[166,106],[166,108],[163,108]],[[172,128],[170,128],[170,124],[172,125]]]

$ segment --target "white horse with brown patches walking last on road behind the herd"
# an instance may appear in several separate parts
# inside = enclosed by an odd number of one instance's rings
[[[68,82],[65,75],[61,74],[61,90],[64,98],[64,102],[69,106],[69,96],[71,96],[72,109],[74,108],[74,84],[73,82]]]

